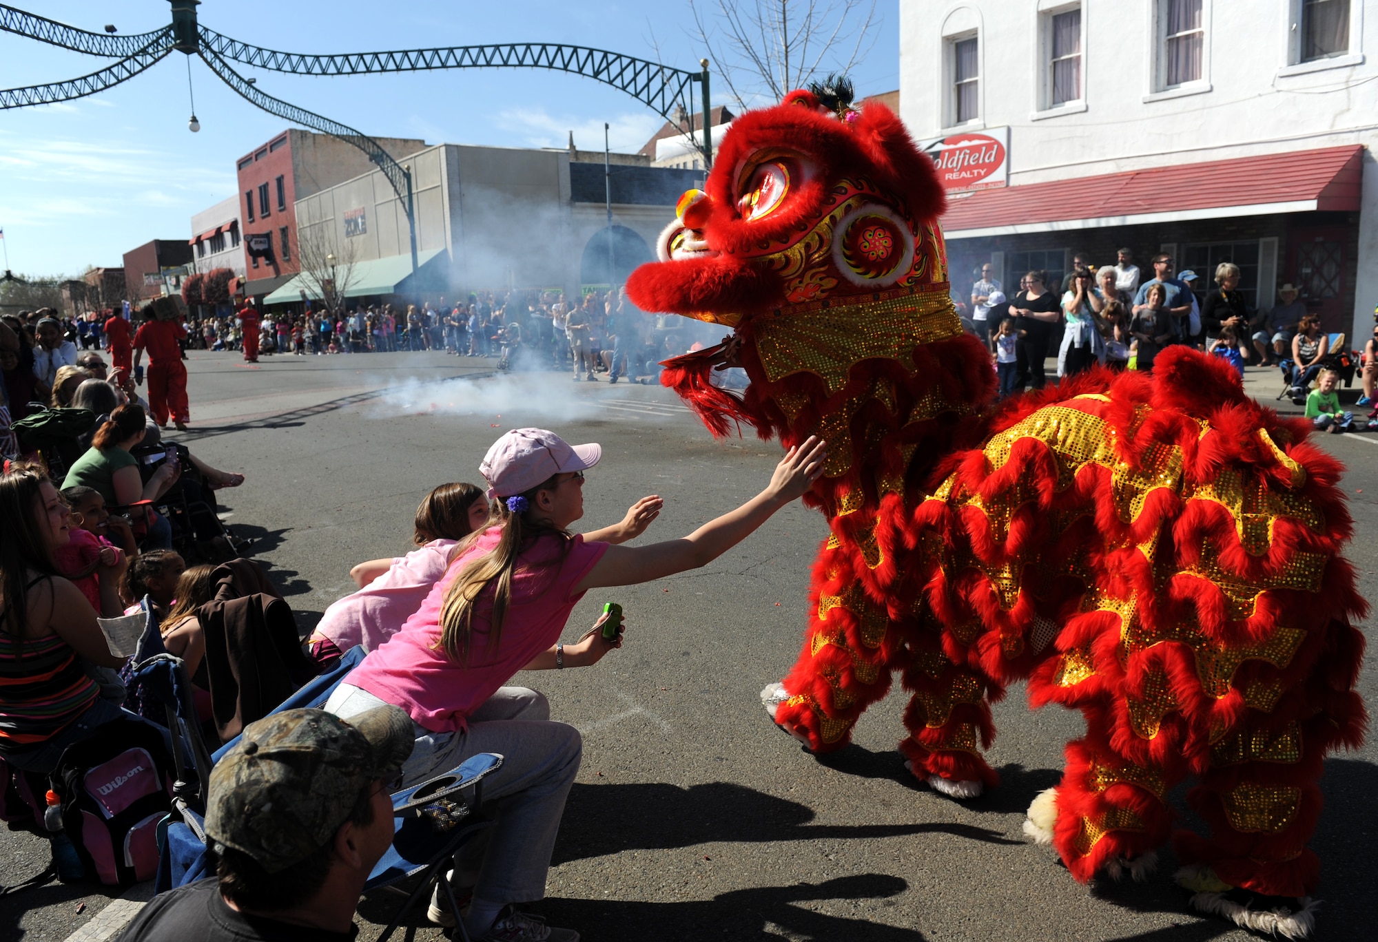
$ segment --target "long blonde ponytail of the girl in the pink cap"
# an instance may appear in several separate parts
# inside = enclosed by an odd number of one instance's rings
[[[507,620],[507,607],[511,605],[513,572],[517,569],[517,559],[521,556],[522,550],[529,548],[531,543],[539,537],[557,536],[564,551],[561,559],[564,559],[564,554],[569,552],[570,536],[568,530],[558,529],[550,521],[535,519],[532,516],[536,505],[536,493],[554,490],[557,486],[555,478],[558,477],[551,475],[521,494],[528,503],[528,508],[522,514],[514,514],[507,510],[506,500],[496,501],[497,518],[491,526],[497,525],[503,527],[502,536],[497,538],[497,545],[482,556],[464,563],[455,581],[445,589],[445,600],[441,603],[440,639],[435,642],[435,647],[442,649],[451,660],[469,667],[469,658],[473,654],[474,607],[478,603],[478,596],[489,584],[495,584],[495,588],[493,610],[488,618],[489,628],[485,653],[492,654],[497,650],[503,635],[503,622]],[[486,532],[488,527],[480,527],[455,544],[455,548],[451,551],[451,559],[463,555]]]

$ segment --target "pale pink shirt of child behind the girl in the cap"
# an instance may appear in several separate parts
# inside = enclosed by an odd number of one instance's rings
[[[347,651],[360,645],[372,651],[397,634],[445,574],[455,540],[431,540],[420,550],[393,559],[386,573],[353,595],[333,602],[316,634]]]

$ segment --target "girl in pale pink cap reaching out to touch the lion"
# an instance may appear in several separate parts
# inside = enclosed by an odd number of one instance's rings
[[[457,894],[473,890],[464,921],[474,939],[579,938],[511,908],[546,895],[559,817],[579,771],[579,731],[551,722],[540,694],[503,684],[522,669],[597,662],[613,646],[599,632],[568,651],[555,643],[584,592],[706,566],[803,494],[823,474],[825,457],[823,442],[810,438],[790,449],[770,483],[734,511],[679,540],[624,547],[568,530],[584,512],[584,471],[601,454],[598,445],[570,446],[540,428],[497,439],[480,465],[500,504],[497,518],[460,541],[422,607],[325,705],[342,718],[380,702],[405,709],[416,733],[402,768],[407,784],[480,752],[504,756],[484,785],[485,808],[496,813],[486,847],[462,854],[451,875]],[[442,921],[435,902],[430,916]]]

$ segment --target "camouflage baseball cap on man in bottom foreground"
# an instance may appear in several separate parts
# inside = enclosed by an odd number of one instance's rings
[[[413,735],[411,718],[391,705],[347,722],[285,709],[249,723],[211,771],[205,836],[280,873],[333,837],[369,782],[401,770]]]

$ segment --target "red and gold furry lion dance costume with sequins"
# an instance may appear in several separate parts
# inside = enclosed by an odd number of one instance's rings
[[[644,310],[733,329],[663,376],[714,434],[828,443],[805,501],[831,536],[768,709],[838,749],[898,671],[911,770],[970,797],[998,784],[989,705],[1027,680],[1034,705],[1086,718],[1025,822],[1078,880],[1142,877],[1171,836],[1196,909],[1305,935],[1322,759],[1367,722],[1341,465],[1184,347],[1152,376],[1094,369],[994,405],[933,167],[849,98],[739,117],[627,284]],[[710,381],[723,364],[751,380],[740,398]],[[1171,833],[1188,774],[1210,837]]]

